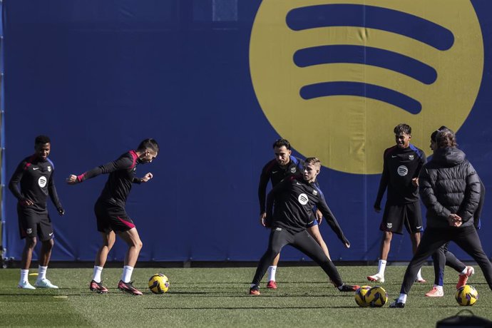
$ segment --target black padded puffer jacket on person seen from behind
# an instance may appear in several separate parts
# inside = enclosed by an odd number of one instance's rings
[[[457,229],[473,225],[481,183],[465,157],[458,148],[439,148],[422,168],[419,193],[427,208],[427,227],[451,227],[448,222],[451,213],[463,220]]]

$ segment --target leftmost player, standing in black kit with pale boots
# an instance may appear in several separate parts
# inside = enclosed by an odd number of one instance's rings
[[[9,182],[9,189],[19,200],[17,203],[17,215],[19,216],[19,230],[21,239],[26,239],[26,245],[22,250],[21,280],[17,287],[24,289],[58,288],[46,279],[46,270],[53,250],[53,226],[46,208],[46,198],[49,195],[51,201],[58,210],[59,215],[65,214],[56,193],[55,166],[48,158],[51,151],[51,140],[46,135],[39,135],[34,140],[34,155],[24,158],[17,166],[14,175]],[[19,184],[21,189],[19,190]],[[29,267],[37,238],[41,240],[41,253],[39,255],[38,279],[34,286],[29,284]]]

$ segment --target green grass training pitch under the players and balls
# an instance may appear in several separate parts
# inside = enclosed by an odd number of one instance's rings
[[[366,281],[376,267],[339,266],[345,282],[376,285]],[[386,267],[381,284],[389,301],[397,297],[405,266]],[[469,281],[478,289],[473,307],[460,307],[454,299],[456,272],[446,270],[444,297],[424,294],[432,287],[434,271],[423,267],[429,280],[415,284],[404,309],[360,308],[353,293],[333,287],[319,267],[282,267],[277,270],[277,290],[262,282],[260,296],[247,294],[254,267],[237,268],[139,268],[133,272],[135,297],[116,289],[121,269],[105,269],[108,294],[88,289],[91,269],[48,269],[48,279],[58,290],[17,289],[18,269],[0,270],[0,326],[21,327],[436,327],[439,319],[461,309],[492,319],[492,292],[476,267]],[[36,270],[31,270],[36,272]],[[152,294],[148,278],[158,272],[169,277],[166,294]],[[34,284],[36,277],[29,280]]]

